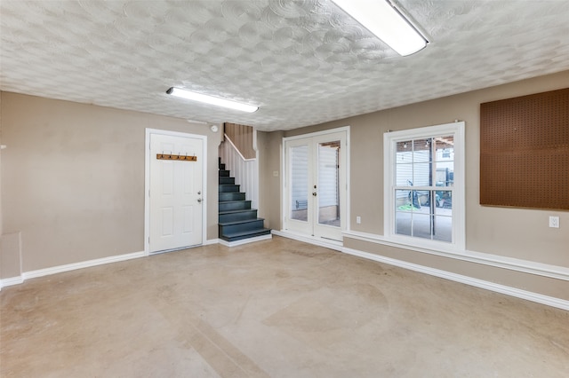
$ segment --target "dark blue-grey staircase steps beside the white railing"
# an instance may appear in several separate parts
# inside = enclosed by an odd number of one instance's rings
[[[251,201],[245,200],[245,193],[239,192],[240,185],[235,184],[235,177],[229,177],[229,173],[220,161],[220,239],[231,242],[270,235],[264,219],[257,217],[257,210],[251,209]]]

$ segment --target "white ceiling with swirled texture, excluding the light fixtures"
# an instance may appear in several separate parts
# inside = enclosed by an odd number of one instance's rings
[[[289,130],[569,69],[569,1],[397,4],[430,41],[408,57],[328,0],[1,0],[0,89]]]

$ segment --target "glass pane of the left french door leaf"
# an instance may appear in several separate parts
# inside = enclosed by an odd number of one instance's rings
[[[293,146],[290,151],[290,218],[306,222],[309,208],[309,146]]]

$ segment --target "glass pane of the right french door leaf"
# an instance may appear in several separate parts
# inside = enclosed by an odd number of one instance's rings
[[[318,224],[340,227],[339,158],[339,140],[318,144]]]

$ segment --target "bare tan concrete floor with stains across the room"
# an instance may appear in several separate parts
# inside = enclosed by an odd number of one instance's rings
[[[4,287],[2,377],[562,377],[569,312],[275,237]]]

